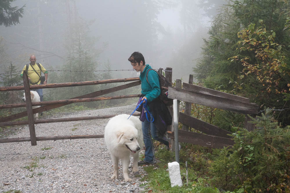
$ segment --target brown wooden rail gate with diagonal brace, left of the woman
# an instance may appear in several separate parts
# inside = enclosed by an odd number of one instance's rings
[[[135,82],[131,82],[135,81]],[[81,95],[67,100],[54,100],[54,101],[43,101],[43,102],[31,102],[30,98],[30,89],[44,89],[44,88],[59,88],[59,87],[75,87],[75,86],[84,86],[84,85],[96,85],[96,84],[107,84],[115,82],[131,82],[121,86],[113,87],[110,89],[104,89],[89,93],[86,95]],[[9,143],[9,142],[19,142],[19,141],[31,141],[31,145],[37,145],[36,141],[44,140],[58,140],[58,139],[87,139],[87,138],[102,138],[104,135],[73,135],[73,136],[48,136],[48,137],[36,137],[35,135],[35,124],[41,123],[52,123],[52,122],[68,122],[68,121],[80,121],[80,120],[94,120],[94,119],[107,119],[115,115],[107,116],[91,116],[91,117],[73,117],[73,118],[63,118],[63,119],[48,119],[48,120],[34,120],[33,114],[54,109],[60,106],[75,102],[91,102],[99,100],[111,100],[111,99],[121,99],[121,98],[135,98],[140,97],[140,95],[121,95],[121,96],[111,96],[111,97],[99,97],[108,93],[119,91],[122,89],[134,87],[141,84],[139,77],[136,78],[122,78],[122,79],[112,79],[112,80],[97,80],[97,81],[86,81],[86,82],[68,82],[68,83],[56,83],[56,84],[43,84],[43,85],[29,85],[29,80],[26,72],[23,72],[23,84],[24,86],[15,86],[15,87],[0,87],[0,91],[13,91],[13,90],[23,90],[26,95],[26,103],[19,104],[3,104],[0,105],[0,109],[7,108],[16,108],[16,107],[27,107],[27,111],[10,115],[7,117],[0,118],[0,126],[14,126],[14,125],[27,125],[29,126],[30,137],[20,137],[20,138],[6,138],[0,139],[0,143]],[[39,108],[32,109],[32,106],[39,106]],[[136,114],[135,114],[136,115]],[[10,122],[21,117],[28,116],[27,121],[16,121]]]

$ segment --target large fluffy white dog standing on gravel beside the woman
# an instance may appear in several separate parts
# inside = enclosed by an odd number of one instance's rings
[[[122,160],[125,182],[132,181],[128,177],[130,155],[133,155],[133,172],[138,171],[140,148],[143,146],[142,124],[138,117],[122,114],[112,117],[105,127],[105,142],[113,161],[111,179],[118,179],[118,163]]]

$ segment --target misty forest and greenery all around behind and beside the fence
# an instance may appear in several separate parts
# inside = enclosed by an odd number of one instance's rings
[[[290,192],[290,1],[0,1],[0,87],[23,85],[20,73],[31,55],[48,71],[48,84],[139,77],[128,61],[135,51],[153,69],[171,67],[173,86],[177,79],[187,83],[192,74],[194,85],[259,106],[249,132],[245,115],[191,105],[192,117],[231,132],[234,145],[214,149],[182,143],[180,167],[188,161],[195,175],[178,191]],[[117,85],[44,89],[44,101]],[[140,86],[106,96],[138,93]],[[22,94],[0,92],[0,103],[20,103]],[[83,102],[63,110],[136,102]],[[184,106],[181,102],[180,111]],[[22,111],[1,109],[0,117]],[[156,183],[150,188],[174,192]]]

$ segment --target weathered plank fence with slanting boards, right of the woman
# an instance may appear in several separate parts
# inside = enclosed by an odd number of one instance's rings
[[[224,146],[233,145],[231,137],[227,135],[231,134],[229,131],[191,117],[191,103],[245,114],[245,128],[249,131],[253,130],[254,125],[248,122],[249,117],[247,115],[250,114],[253,117],[257,115],[258,105],[250,103],[248,98],[193,85],[192,77],[191,75],[189,78],[189,84],[183,83],[182,89],[177,87],[168,88],[168,98],[186,102],[185,113],[179,112],[178,122],[183,124],[182,130],[178,130],[179,141],[211,148],[223,148]],[[202,133],[190,132],[188,127]],[[173,130],[167,131],[167,136],[174,139]]]

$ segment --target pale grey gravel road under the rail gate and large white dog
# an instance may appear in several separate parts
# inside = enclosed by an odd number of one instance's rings
[[[46,117],[66,118],[112,114],[131,114],[135,104],[79,111]],[[42,117],[40,117],[41,119]],[[36,136],[97,135],[104,134],[108,119],[60,122],[35,125]],[[28,126],[22,126],[14,137],[29,137]],[[144,151],[144,150],[143,150]],[[144,154],[144,152],[142,152]],[[122,164],[119,162],[119,179],[111,180],[113,165],[104,138],[57,141],[30,141],[0,143],[0,192],[143,192],[147,182],[139,181],[146,175],[142,166],[132,182],[124,182]],[[132,158],[131,158],[132,164]],[[130,164],[130,166],[131,166]],[[148,190],[147,190],[148,191]]]

